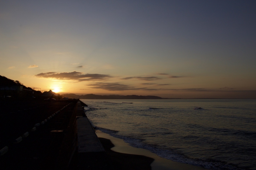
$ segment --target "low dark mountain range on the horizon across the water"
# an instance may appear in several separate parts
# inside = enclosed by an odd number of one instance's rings
[[[68,98],[79,98],[79,99],[164,99],[158,96],[138,96],[138,95],[96,95],[96,94],[63,94]]]

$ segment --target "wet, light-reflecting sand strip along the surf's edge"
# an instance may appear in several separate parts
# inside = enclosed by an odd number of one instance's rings
[[[100,130],[96,130],[96,135],[100,139],[100,142],[102,142],[103,146],[105,142],[104,139],[110,140],[110,142],[114,145],[113,147],[110,147],[110,149],[114,152],[131,154],[131,155],[142,155],[142,156],[146,156],[148,158],[154,159],[154,161],[152,161],[152,163],[150,164],[152,170],[185,170],[185,169],[206,170],[205,168],[200,166],[175,162],[172,160],[162,158],[147,149],[132,147],[129,145],[129,143],[124,142],[122,139],[112,137],[106,133],[101,132]],[[124,163],[124,162],[121,161],[121,163]]]

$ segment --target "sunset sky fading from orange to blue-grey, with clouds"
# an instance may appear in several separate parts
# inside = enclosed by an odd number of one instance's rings
[[[0,75],[60,94],[256,98],[255,0],[0,1]]]

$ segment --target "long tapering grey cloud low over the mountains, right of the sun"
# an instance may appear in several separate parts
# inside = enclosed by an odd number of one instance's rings
[[[119,83],[93,83],[89,84],[89,86],[92,86],[91,88],[97,88],[97,89],[103,89],[103,90],[109,90],[109,91],[124,91],[124,90],[159,90],[154,88],[146,88],[146,87],[140,87],[135,88],[129,85],[122,85]]]

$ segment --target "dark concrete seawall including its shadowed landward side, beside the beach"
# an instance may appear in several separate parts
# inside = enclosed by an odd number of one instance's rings
[[[106,152],[78,100],[70,118],[58,157],[57,169],[105,169]],[[64,156],[65,155],[65,156]],[[90,168],[88,168],[90,167]]]

